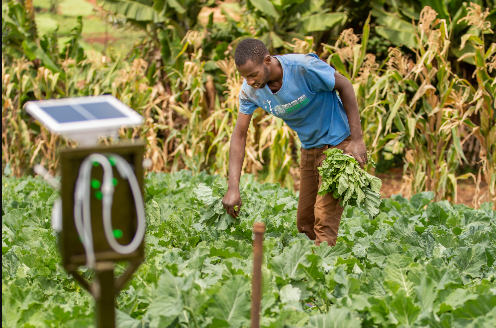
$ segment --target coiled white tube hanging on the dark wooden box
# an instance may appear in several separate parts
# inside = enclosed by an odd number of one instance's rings
[[[129,163],[117,154],[108,155],[115,163],[117,172],[123,179],[127,179],[134,198],[137,214],[137,228],[133,240],[128,245],[121,245],[113,235],[112,228],[112,201],[113,201],[113,171],[109,159],[102,154],[91,154],[81,163],[76,190],[74,193],[74,223],[81,238],[86,252],[86,265],[93,266],[96,262],[95,249],[93,245],[93,231],[91,226],[91,172],[94,163],[103,168],[102,193],[102,220],[103,231],[110,247],[119,254],[131,254],[136,251],[145,236],[145,206],[138,180]]]

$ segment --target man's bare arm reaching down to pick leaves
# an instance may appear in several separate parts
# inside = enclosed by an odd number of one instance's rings
[[[251,117],[252,114],[238,113],[238,119],[234,126],[229,145],[229,183],[227,193],[222,198],[222,204],[227,214],[230,214],[234,218],[238,216],[242,205],[239,194],[239,179],[245,158],[246,134],[250,127]],[[234,206],[238,206],[236,210],[234,210]]]

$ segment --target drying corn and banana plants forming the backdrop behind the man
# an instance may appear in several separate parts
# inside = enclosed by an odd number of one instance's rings
[[[85,50],[83,17],[63,38],[40,35],[32,1],[2,2],[4,174],[35,163],[56,173],[57,147],[72,146],[27,115],[26,101],[112,94],[144,116],[119,137],[146,140],[151,170],[227,176],[242,82],[232,55],[257,37],[273,54],[316,52],[352,81],[367,148],[379,167],[403,158],[405,196],[430,190],[456,202],[458,181],[472,179],[474,206],[496,201],[492,1],[98,3],[122,33],[144,35],[127,55]],[[243,171],[293,186],[298,148],[294,131],[258,110]]]

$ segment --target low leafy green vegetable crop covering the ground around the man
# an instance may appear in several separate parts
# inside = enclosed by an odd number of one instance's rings
[[[492,204],[476,210],[423,192],[382,199],[374,220],[347,207],[336,246],[315,247],[298,234],[298,196],[252,175],[241,179],[236,221],[200,223],[225,185],[214,180],[147,175],[146,262],[117,295],[118,327],[249,327],[255,221],[267,226],[263,327],[495,327]],[[2,177],[2,327],[93,325],[92,297],[59,264],[57,197],[38,178]]]

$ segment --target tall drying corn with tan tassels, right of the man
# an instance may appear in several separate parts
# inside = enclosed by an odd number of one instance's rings
[[[485,22],[480,7],[472,6],[464,19],[475,27],[477,22],[484,35],[490,24]],[[472,173],[456,176],[458,166],[467,162],[463,144],[471,135],[480,135],[478,140],[484,146],[479,154],[478,186],[482,173],[493,199],[494,78],[488,74],[486,61],[496,49],[485,51],[484,42],[475,35],[462,37],[462,42],[478,43],[480,47],[478,52],[459,59],[478,56],[477,89],[452,71],[447,60],[451,33],[448,26],[452,25],[436,16],[436,11],[428,6],[420,13],[419,23],[415,25],[417,47],[410,48],[415,60],[397,48],[390,48],[386,61],[376,63],[374,55],[365,53],[369,36],[367,21],[361,44],[352,30],[345,30],[334,46],[324,45],[329,53],[327,62],[354,83],[365,141],[372,153],[384,146],[391,147],[394,153],[404,152],[402,191],[406,196],[432,190],[438,199],[448,197],[456,201],[457,181],[476,179]],[[481,122],[489,124],[480,127],[474,124],[470,118],[477,113]],[[480,201],[476,195],[474,205]]]

